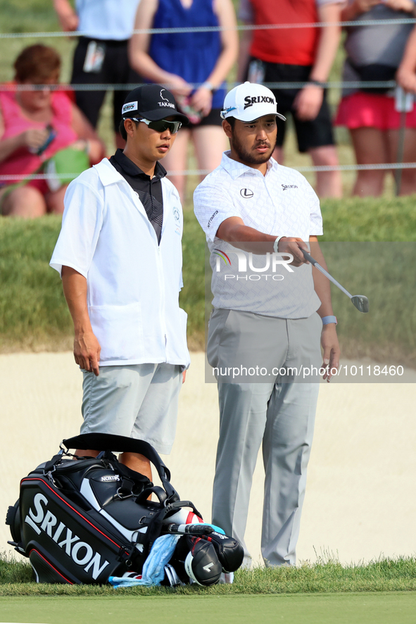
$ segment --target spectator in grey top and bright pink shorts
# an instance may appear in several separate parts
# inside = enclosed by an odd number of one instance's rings
[[[342,11],[343,20],[356,20],[347,28],[345,81],[394,80],[412,24],[360,26],[362,20],[403,20],[416,15],[413,0],[351,0]],[[398,154],[401,115],[395,110],[394,91],[387,88],[344,88],[336,125],[351,134],[359,165],[393,163]],[[406,115],[403,161],[416,159],[416,111]],[[354,195],[379,196],[386,170],[358,171]],[[403,169],[401,194],[416,192],[416,171]]]

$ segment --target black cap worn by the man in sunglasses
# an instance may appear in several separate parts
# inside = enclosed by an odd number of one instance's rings
[[[179,113],[174,96],[160,85],[141,85],[130,91],[121,109],[123,119],[143,117],[158,121],[166,117],[175,117],[182,123],[188,123],[186,115]]]

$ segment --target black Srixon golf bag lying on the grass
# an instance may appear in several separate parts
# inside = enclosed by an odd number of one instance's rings
[[[75,461],[68,449],[107,450]],[[148,458],[162,487],[124,466],[112,451]],[[158,500],[149,501],[151,494]],[[8,543],[30,559],[37,582],[70,585],[140,574],[153,543],[168,532],[184,534],[167,566],[175,568],[173,578],[212,585],[222,570],[239,568],[243,549],[197,523],[203,523],[201,514],[191,501],[179,500],[151,444],[108,434],[63,440],[57,455],[20,482],[20,499],[6,517],[13,538]],[[165,582],[174,584],[168,571]]]

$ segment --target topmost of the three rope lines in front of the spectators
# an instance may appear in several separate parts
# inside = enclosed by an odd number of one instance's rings
[[[137,28],[133,35],[168,35],[183,32],[220,32],[222,30],[286,30],[288,28],[324,28],[329,26],[393,26],[415,24],[416,18],[401,18],[398,20],[357,20],[349,22],[315,22],[301,24],[241,24],[233,27],[224,26],[191,26],[179,28]],[[29,39],[33,37],[91,37],[90,32],[0,32],[0,39]]]

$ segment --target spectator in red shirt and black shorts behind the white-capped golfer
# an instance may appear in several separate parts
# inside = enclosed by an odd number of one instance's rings
[[[315,166],[338,164],[324,82],[339,44],[341,0],[241,0],[246,24],[333,23],[317,28],[245,31],[238,79],[250,82],[306,82],[298,89],[272,89],[279,111],[294,119],[298,149]],[[277,119],[275,158],[283,163],[284,122]],[[317,173],[317,194],[341,197],[339,171]]]

